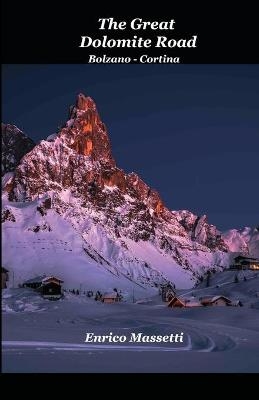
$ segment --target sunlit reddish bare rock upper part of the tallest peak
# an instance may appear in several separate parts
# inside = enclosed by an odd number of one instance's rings
[[[134,240],[154,238],[156,227],[165,222],[168,234],[186,236],[184,226],[164,206],[159,194],[137,174],[125,174],[116,166],[95,103],[82,94],[55,140],[41,141],[23,158],[9,199],[31,201],[50,191],[58,194],[67,189],[80,198],[82,207],[94,206],[106,215],[111,227]]]

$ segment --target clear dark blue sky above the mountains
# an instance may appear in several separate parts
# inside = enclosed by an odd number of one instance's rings
[[[259,223],[259,65],[5,65],[3,122],[34,140],[91,96],[118,166],[221,230]]]

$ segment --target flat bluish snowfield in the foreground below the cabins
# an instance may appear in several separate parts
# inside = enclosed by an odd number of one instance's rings
[[[229,274],[233,271],[215,274],[213,283],[228,281]],[[175,309],[161,303],[158,296],[142,304],[140,301],[104,304],[83,295],[66,294],[63,300],[52,302],[40,298],[33,290],[5,289],[2,370],[259,372],[259,308],[254,295],[259,274],[255,275],[253,279],[232,283],[227,290],[231,299],[243,295],[243,307]],[[193,289],[193,298],[217,295],[217,290],[216,287]],[[112,332],[127,338],[132,332],[143,335],[183,332],[183,342],[85,343],[88,332],[96,335]]]

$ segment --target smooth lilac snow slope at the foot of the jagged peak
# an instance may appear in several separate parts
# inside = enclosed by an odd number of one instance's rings
[[[146,290],[170,278],[180,287],[194,284],[190,271],[154,245],[124,238],[122,246],[92,216],[72,219],[75,205],[64,218],[53,209],[42,215],[41,204],[3,201],[4,265],[15,271],[16,285],[41,273],[61,276],[69,288],[93,290],[132,287],[131,281]]]

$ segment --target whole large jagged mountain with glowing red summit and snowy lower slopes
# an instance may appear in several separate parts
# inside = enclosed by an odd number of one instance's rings
[[[229,249],[206,216],[170,211],[112,156],[90,97],[78,95],[66,125],[3,179],[3,261],[17,280],[55,273],[68,287],[192,287]]]

